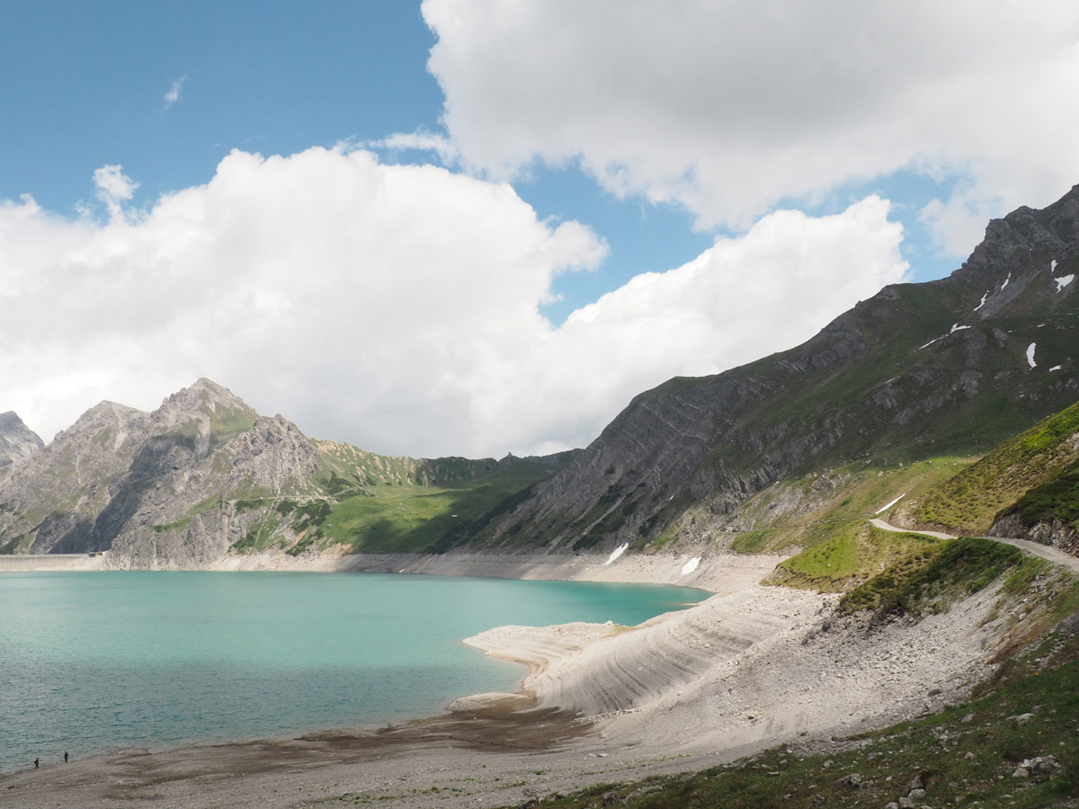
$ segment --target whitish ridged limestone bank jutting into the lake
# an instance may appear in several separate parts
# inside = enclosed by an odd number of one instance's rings
[[[634,628],[500,627],[466,643],[527,663],[538,708],[599,717],[633,755],[701,755],[848,735],[962,699],[1008,619],[995,594],[870,630],[836,597],[754,585]]]

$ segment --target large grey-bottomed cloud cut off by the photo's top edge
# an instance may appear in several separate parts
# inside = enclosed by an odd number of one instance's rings
[[[781,201],[914,169],[962,178],[925,215],[960,255],[985,210],[1041,206],[1079,179],[1073,0],[422,9],[443,123],[489,177],[579,161],[616,194],[743,229]]]

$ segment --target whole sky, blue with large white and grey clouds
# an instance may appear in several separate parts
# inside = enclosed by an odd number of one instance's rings
[[[0,3],[0,411],[583,447],[1079,182],[1079,4]]]

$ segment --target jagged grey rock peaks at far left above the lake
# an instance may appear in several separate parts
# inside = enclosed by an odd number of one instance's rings
[[[99,551],[118,543],[133,549],[138,537],[164,533],[161,525],[203,501],[232,494],[237,481],[272,489],[288,474],[293,458],[283,448],[299,430],[284,420],[252,429],[257,419],[208,380],[153,413],[101,402],[0,483],[0,544],[35,553]],[[310,457],[314,449],[304,442]]]

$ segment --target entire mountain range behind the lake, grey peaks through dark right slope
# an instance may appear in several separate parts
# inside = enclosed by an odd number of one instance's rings
[[[811,544],[823,523],[810,530],[809,516],[853,525],[889,485],[937,485],[969,463],[959,456],[1076,402],[1077,276],[1079,187],[1043,210],[989,222],[950,277],[885,287],[790,351],[672,379],[633,399],[586,450],[552,456],[375,455],[309,439],[208,380],[153,413],[101,402],[49,447],[5,413],[0,552],[108,549],[122,566],[197,567],[265,550]],[[1062,419],[1054,424],[1066,431]],[[1074,462],[1061,449],[1051,475],[1025,479],[1043,488],[1025,505],[1008,501],[1014,510],[1000,519],[1047,540],[1068,536]],[[941,524],[944,502],[935,511],[927,503],[906,519]],[[983,508],[976,526],[997,530],[996,518]]]

